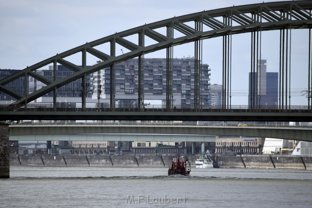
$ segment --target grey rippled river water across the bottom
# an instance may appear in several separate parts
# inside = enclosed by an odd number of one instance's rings
[[[10,167],[0,207],[311,207],[312,171]]]

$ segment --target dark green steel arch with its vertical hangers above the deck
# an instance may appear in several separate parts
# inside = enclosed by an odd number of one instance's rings
[[[193,14],[188,14],[180,17],[173,17],[170,19],[162,20],[159,22],[154,22],[150,24],[145,24],[140,27],[132,28],[126,31],[115,33],[113,35],[103,37],[99,40],[86,43],[84,45],[78,46],[61,54],[57,54],[51,58],[43,60],[35,65],[29,66],[24,70],[17,72],[14,75],[8,76],[0,80],[0,90],[16,98],[17,101],[14,104],[27,104],[49,92],[54,92],[53,104],[56,108],[56,89],[64,86],[74,80],[82,78],[82,85],[85,85],[85,77],[91,73],[102,70],[106,67],[110,67],[110,105],[115,107],[115,69],[114,64],[129,60],[134,57],[139,57],[139,83],[138,83],[138,108],[142,108],[140,98],[143,97],[143,64],[144,64],[144,54],[166,49],[166,58],[167,58],[167,71],[166,71],[166,100],[167,104],[172,102],[172,59],[173,59],[173,46],[194,42],[195,44],[195,103],[198,105],[199,97],[199,78],[201,74],[201,48],[202,40],[214,37],[223,37],[223,100],[222,107],[226,108],[229,102],[229,89],[228,89],[228,65],[230,61],[229,49],[230,49],[230,38],[233,34],[239,33],[251,33],[251,72],[257,70],[257,60],[259,56],[259,33],[261,31],[268,30],[280,30],[281,32],[281,44],[285,45],[285,30],[289,29],[303,29],[303,28],[312,28],[312,1],[285,1],[285,2],[268,2],[268,3],[259,3],[251,4],[244,6],[233,6],[222,9],[215,9],[210,11],[203,11]],[[189,26],[189,22],[192,22],[193,27]],[[163,35],[157,32],[157,29],[165,28],[166,35]],[[178,31],[182,33],[183,36],[175,37],[174,32]],[[127,36],[138,35],[137,43],[127,40]],[[283,34],[283,35],[282,35]],[[145,45],[145,38],[149,37],[152,40],[156,41],[156,44]],[[311,40],[311,35],[310,35]],[[110,45],[110,53],[104,53],[103,51],[95,49],[96,46],[108,43]],[[119,44],[130,52],[125,54],[116,55],[116,44]],[[283,50],[282,50],[283,48]],[[310,53],[309,47],[309,53]],[[75,65],[67,60],[66,57],[71,55],[81,53],[81,63],[82,66]],[[280,49],[280,55],[284,56],[287,51],[284,50],[284,47]],[[95,56],[102,60],[102,62],[97,63],[91,67],[86,67],[87,54]],[[311,55],[309,55],[311,56]],[[282,70],[284,72],[285,60],[280,60],[282,63]],[[311,62],[311,58],[309,58]],[[37,74],[35,71],[43,66],[48,64],[53,64],[54,77],[53,80],[48,79],[42,75]],[[61,64],[73,71],[71,75],[68,75],[65,78],[57,80],[56,71],[57,64]],[[286,73],[287,73],[287,64]],[[309,63],[309,73],[311,71],[312,64]],[[310,73],[312,75],[312,73]],[[18,79],[19,77],[25,77],[24,84],[24,94],[19,94],[16,91],[5,87],[6,84],[12,82],[13,80]],[[37,81],[44,83],[46,86],[41,89],[29,93],[27,89],[27,77],[33,77]],[[311,77],[308,77],[309,85]],[[287,81],[287,80],[286,80]],[[256,82],[253,80],[252,82]],[[311,82],[312,83],[312,82]],[[253,85],[254,86],[254,85]],[[287,85],[286,85],[287,86]],[[283,86],[284,87],[284,84]],[[308,95],[310,97],[309,86]],[[282,90],[282,89],[280,89]],[[287,106],[287,87],[286,95],[280,97],[279,106],[284,108],[284,105]],[[256,105],[256,89],[251,89],[251,96],[253,99],[253,105]],[[281,91],[280,91],[281,94]],[[281,95],[280,95],[281,96]],[[284,103],[285,102],[285,103]],[[309,101],[310,102],[310,101]],[[85,106],[85,88],[82,88],[82,108]],[[310,109],[310,103],[308,104]]]

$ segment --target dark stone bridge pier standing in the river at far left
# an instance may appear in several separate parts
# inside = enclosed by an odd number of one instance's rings
[[[0,178],[10,177],[9,124],[0,123]]]

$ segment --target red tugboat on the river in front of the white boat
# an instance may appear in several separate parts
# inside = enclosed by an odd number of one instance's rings
[[[171,175],[183,175],[189,176],[191,172],[191,167],[187,166],[188,159],[185,159],[180,155],[173,158],[171,161],[171,167],[168,170],[168,176]]]

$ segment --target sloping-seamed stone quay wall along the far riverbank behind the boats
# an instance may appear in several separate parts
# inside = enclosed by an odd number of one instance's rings
[[[187,156],[195,167],[198,156]],[[312,156],[296,155],[215,155],[215,168],[259,168],[312,170]],[[11,166],[93,166],[170,167],[172,156],[88,155],[88,156],[10,156]]]

